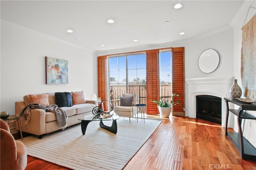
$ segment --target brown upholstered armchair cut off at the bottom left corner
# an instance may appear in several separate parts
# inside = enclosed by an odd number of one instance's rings
[[[1,170],[24,170],[27,166],[27,150],[25,145],[14,140],[8,124],[0,120],[0,152]]]

